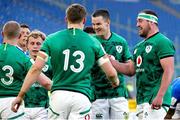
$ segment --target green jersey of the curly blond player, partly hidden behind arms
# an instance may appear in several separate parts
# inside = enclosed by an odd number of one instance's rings
[[[42,72],[50,79],[52,78],[52,66],[50,63],[50,58],[43,67]],[[38,82],[35,82],[25,94],[24,101],[26,108],[47,108],[49,106],[48,90],[42,87]]]

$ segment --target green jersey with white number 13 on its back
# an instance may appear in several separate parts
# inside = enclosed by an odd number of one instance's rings
[[[52,91],[75,91],[92,99],[90,71],[105,54],[98,40],[80,29],[65,29],[49,35],[41,51],[51,56]]]

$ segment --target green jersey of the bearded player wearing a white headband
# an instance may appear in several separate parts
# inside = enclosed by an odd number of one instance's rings
[[[161,85],[163,69],[160,59],[174,56],[172,42],[161,33],[140,42],[134,49],[136,67],[137,103],[152,103]],[[163,98],[163,104],[170,105],[171,86]]]

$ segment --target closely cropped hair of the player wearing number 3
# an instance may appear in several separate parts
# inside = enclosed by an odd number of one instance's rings
[[[13,39],[20,35],[20,25],[16,21],[8,21],[3,26],[3,34],[7,39]]]

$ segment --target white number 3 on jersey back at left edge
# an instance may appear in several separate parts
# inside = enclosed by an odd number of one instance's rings
[[[1,78],[1,82],[5,85],[10,85],[14,78],[13,78],[13,73],[14,73],[14,69],[10,66],[10,65],[5,65],[3,68],[2,68],[3,71],[8,71],[5,75],[6,77],[9,79],[8,81],[5,80],[4,78]]]

